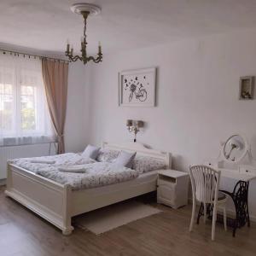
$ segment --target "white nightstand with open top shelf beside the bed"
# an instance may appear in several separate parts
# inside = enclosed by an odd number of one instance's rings
[[[189,174],[161,170],[157,179],[157,202],[177,209],[188,204]]]

